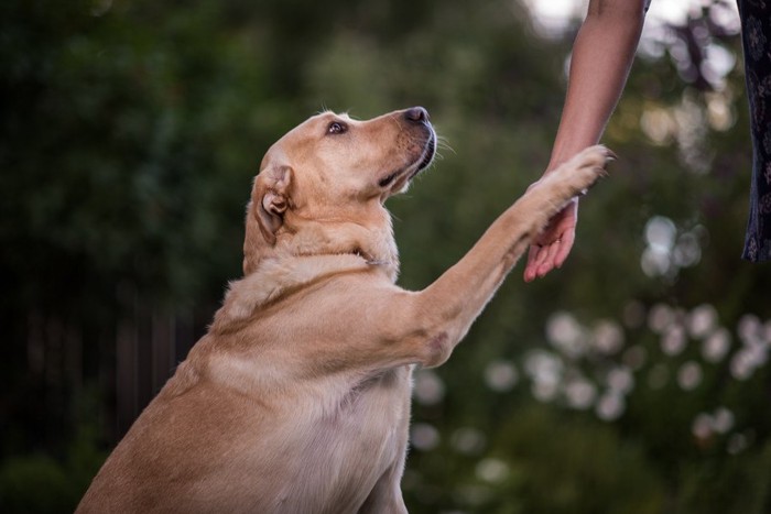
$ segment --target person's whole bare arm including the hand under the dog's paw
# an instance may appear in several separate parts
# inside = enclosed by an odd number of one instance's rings
[[[567,95],[544,175],[596,144],[627,83],[644,21],[644,0],[590,0],[573,45]],[[573,248],[578,199],[555,215],[530,247],[525,282],[560,267]]]

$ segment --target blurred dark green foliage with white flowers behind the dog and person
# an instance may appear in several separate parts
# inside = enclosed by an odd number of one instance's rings
[[[636,63],[565,266],[515,270],[419,375],[411,512],[771,511],[771,274],[739,260],[739,42],[703,4]],[[0,511],[72,511],[119,436],[116,327],[138,303],[210,316],[281,134],[428,108],[441,160],[390,201],[423,287],[540,177],[573,35],[513,1],[2,2]],[[736,65],[686,77],[688,35]]]

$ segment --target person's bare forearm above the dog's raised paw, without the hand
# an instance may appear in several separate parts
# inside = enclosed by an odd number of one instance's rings
[[[629,76],[643,1],[593,0],[576,41],[567,95],[547,169],[599,142]]]

